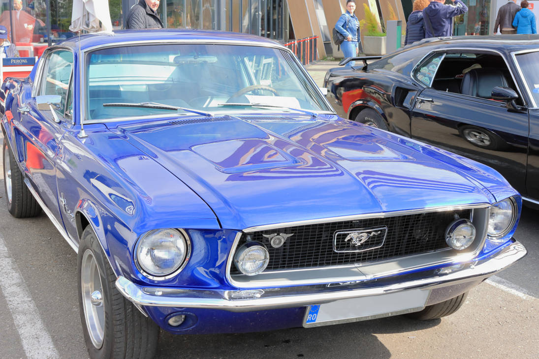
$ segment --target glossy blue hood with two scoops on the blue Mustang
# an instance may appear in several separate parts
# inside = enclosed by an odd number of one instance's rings
[[[478,177],[507,187],[434,147],[334,115],[276,117],[171,119],[111,130],[182,180],[229,229],[492,202]]]

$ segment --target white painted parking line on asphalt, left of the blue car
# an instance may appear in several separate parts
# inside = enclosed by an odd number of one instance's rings
[[[30,291],[20,275],[17,264],[9,256],[0,235],[0,290],[13,316],[24,352],[29,358],[58,358],[58,351],[47,333]]]

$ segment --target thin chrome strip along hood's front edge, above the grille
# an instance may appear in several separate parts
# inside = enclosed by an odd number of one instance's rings
[[[386,218],[386,217],[395,217],[395,216],[402,216],[406,214],[418,214],[418,213],[426,213],[426,212],[444,212],[447,210],[487,208],[489,206],[490,206],[490,203],[473,203],[469,205],[440,206],[440,207],[420,208],[420,209],[411,209],[411,210],[398,210],[395,212],[355,214],[355,215],[349,215],[349,216],[328,217],[328,218],[321,218],[321,219],[314,219],[314,220],[266,224],[264,226],[254,226],[254,227],[245,228],[243,231],[244,233],[252,233],[252,232],[257,232],[261,230],[270,230],[270,229],[277,229],[277,228],[284,228],[284,227],[306,226],[307,224],[354,221],[354,220],[362,220],[362,219],[369,219],[369,218]]]

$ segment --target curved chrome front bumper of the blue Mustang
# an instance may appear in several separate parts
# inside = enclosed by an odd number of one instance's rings
[[[443,287],[479,283],[507,268],[526,255],[526,248],[514,243],[494,256],[480,261],[402,274],[377,280],[351,281],[321,285],[248,290],[177,289],[143,287],[118,277],[116,287],[130,301],[142,306],[224,309],[251,312],[265,309],[301,307],[340,299],[395,293],[413,288],[436,290]]]

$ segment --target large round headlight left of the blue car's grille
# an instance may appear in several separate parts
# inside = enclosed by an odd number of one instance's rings
[[[136,263],[143,272],[163,277],[175,272],[189,256],[186,235],[176,229],[154,229],[144,234],[136,245]],[[157,278],[165,279],[165,278]]]

